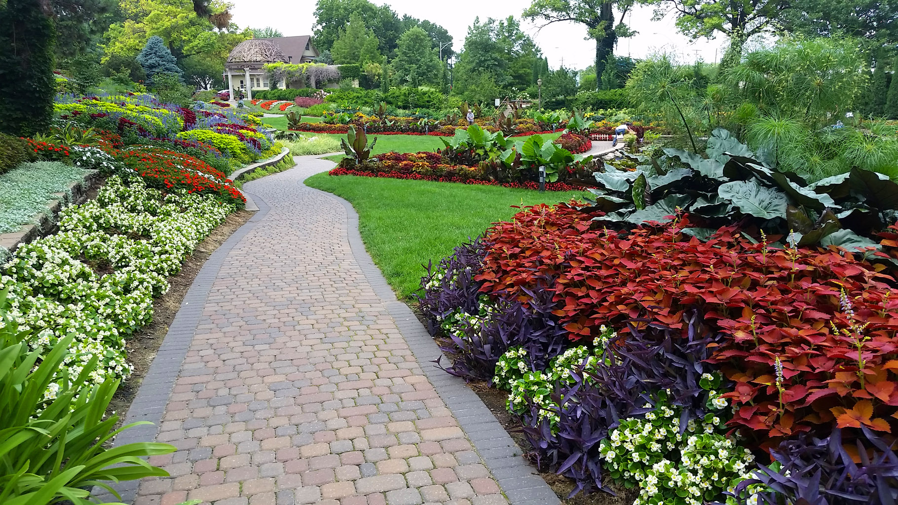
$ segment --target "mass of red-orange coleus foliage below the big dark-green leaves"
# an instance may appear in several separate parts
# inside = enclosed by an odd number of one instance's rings
[[[556,278],[554,314],[576,341],[632,318],[681,327],[698,308],[728,337],[711,361],[735,381],[732,424],[771,437],[832,423],[891,431],[898,297],[881,267],[836,248],[771,248],[735,227],[702,242],[682,233],[687,217],[603,230],[597,214],[540,205],[498,223],[481,290],[526,300],[536,275]]]

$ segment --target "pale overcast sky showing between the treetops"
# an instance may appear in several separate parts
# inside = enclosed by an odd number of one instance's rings
[[[315,23],[313,11],[315,0],[231,0],[233,1],[233,22],[243,27],[264,28],[271,26],[284,35],[308,35]],[[453,0],[436,2],[426,0],[374,0],[374,4],[389,4],[392,10],[402,16],[409,14],[419,19],[427,19],[442,25],[453,36],[453,48],[462,49],[468,26],[474,17],[481,20],[489,17],[519,17],[530,4],[529,0]],[[646,57],[648,54],[664,50],[676,52],[685,63],[695,61],[696,56],[706,62],[714,62],[723,56],[726,38],[698,39],[692,41],[682,36],[674,26],[674,16],[668,15],[660,22],[652,21],[653,8],[637,6],[627,14],[627,23],[638,34],[631,39],[621,39],[614,53],[619,56]],[[618,14],[620,15],[620,14]],[[582,69],[592,65],[595,42],[585,40],[586,30],[574,22],[555,23],[542,30],[529,22],[524,23],[524,31],[530,34],[549,58],[549,65],[556,68],[565,66]]]

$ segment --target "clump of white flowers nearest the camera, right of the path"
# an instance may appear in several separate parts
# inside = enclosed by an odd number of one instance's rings
[[[646,405],[651,406],[651,405]],[[680,413],[662,402],[645,419],[628,418],[602,441],[600,454],[614,479],[636,483],[634,505],[701,505],[752,478],[754,457],[708,414],[680,433]]]

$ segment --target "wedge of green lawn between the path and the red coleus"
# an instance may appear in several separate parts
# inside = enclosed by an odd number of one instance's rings
[[[479,236],[490,223],[509,220],[517,212],[511,205],[554,204],[582,195],[395,178],[331,177],[326,172],[305,179],[305,184],[352,203],[365,248],[393,290],[405,299],[418,290],[428,261],[438,263],[469,237]]]

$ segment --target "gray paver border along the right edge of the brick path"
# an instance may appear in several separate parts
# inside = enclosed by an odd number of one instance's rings
[[[521,448],[515,444],[515,440],[512,440],[487,405],[483,404],[480,396],[477,396],[463,379],[449,375],[432,363],[443,353],[409,306],[396,298],[383,273],[374,265],[374,260],[365,250],[362,236],[358,232],[356,209],[339,196],[324,191],[321,193],[337,199],[346,208],[349,246],[358,266],[374,289],[374,293],[390,311],[396,326],[399,327],[411,352],[421,365],[421,370],[424,370],[427,379],[436,387],[437,394],[443,398],[446,406],[462,426],[462,430],[468,435],[471,444],[483,458],[510,504],[560,504],[561,501],[549,484],[521,457],[523,454]]]

